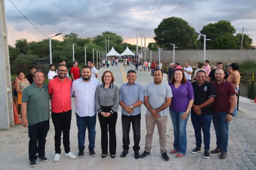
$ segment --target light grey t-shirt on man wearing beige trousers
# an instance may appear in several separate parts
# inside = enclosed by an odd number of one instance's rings
[[[153,109],[157,109],[162,106],[167,97],[172,97],[172,90],[170,86],[164,82],[156,85],[151,82],[146,85],[144,90],[144,95],[148,96],[148,102]],[[147,109],[146,114],[151,115],[150,111]],[[168,107],[159,112],[159,116],[167,116],[169,114]]]

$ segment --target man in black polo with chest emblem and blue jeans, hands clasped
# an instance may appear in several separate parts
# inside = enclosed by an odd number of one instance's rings
[[[210,158],[210,127],[212,122],[212,102],[214,101],[215,88],[206,81],[206,72],[199,70],[196,74],[196,81],[191,83],[194,90],[195,100],[191,110],[191,122],[196,136],[196,147],[191,153],[201,150],[202,136],[204,134],[204,158]]]

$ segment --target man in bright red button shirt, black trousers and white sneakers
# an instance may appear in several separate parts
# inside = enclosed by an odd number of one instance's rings
[[[76,156],[70,152],[69,130],[71,124],[71,85],[72,81],[68,81],[67,67],[65,65],[58,66],[58,78],[49,82],[49,94],[52,98],[52,122],[55,130],[55,156],[53,161],[60,160],[61,133],[63,133],[63,145],[65,156],[75,159]]]

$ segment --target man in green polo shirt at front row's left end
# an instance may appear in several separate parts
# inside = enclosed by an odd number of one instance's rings
[[[28,127],[30,138],[28,145],[30,167],[36,166],[37,157],[42,162],[48,161],[45,157],[45,138],[50,128],[50,96],[48,84],[44,84],[44,72],[36,70],[33,79],[34,83],[23,90],[21,104],[21,124],[23,127]]]

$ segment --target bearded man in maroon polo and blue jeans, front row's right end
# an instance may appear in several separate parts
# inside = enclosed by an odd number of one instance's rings
[[[219,153],[221,159],[225,159],[228,151],[228,125],[232,121],[233,111],[236,106],[236,92],[234,85],[224,79],[222,68],[215,71],[215,81],[211,83],[215,87],[216,98],[212,103],[212,122],[216,133],[216,149],[211,153]]]

